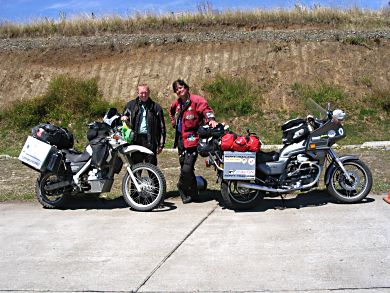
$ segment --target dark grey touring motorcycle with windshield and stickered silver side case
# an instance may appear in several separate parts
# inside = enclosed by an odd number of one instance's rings
[[[331,110],[326,118],[309,115],[283,126],[283,147],[279,152],[222,151],[220,130],[201,138],[199,153],[214,166],[226,207],[253,208],[267,194],[282,195],[308,191],[319,185],[323,170],[327,192],[341,203],[356,203],[371,191],[371,171],[357,156],[338,157],[332,146],[345,138],[345,113]]]

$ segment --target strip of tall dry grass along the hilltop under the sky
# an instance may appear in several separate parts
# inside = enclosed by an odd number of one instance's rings
[[[337,9],[303,7],[290,10],[224,10],[217,11],[207,2],[201,3],[198,12],[134,14],[130,16],[90,15],[67,17],[59,13],[59,19],[37,19],[27,23],[0,23],[0,38],[91,36],[110,33],[172,33],[213,30],[255,30],[287,28],[320,29],[387,29],[390,9],[363,10],[359,8]]]

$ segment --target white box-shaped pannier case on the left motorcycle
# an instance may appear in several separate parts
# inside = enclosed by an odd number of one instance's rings
[[[18,159],[36,170],[46,171],[48,165],[51,165],[50,160],[57,152],[56,147],[29,136]]]

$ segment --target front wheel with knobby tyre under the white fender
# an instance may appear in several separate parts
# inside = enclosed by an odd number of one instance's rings
[[[137,211],[151,211],[164,200],[166,182],[164,174],[155,165],[140,163],[131,167],[141,191],[138,192],[129,173],[123,177],[122,193],[126,203]]]

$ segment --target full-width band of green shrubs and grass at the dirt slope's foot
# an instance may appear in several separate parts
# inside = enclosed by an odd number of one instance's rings
[[[244,78],[217,76],[198,91],[205,94],[218,121],[226,122],[231,130],[241,134],[249,128],[266,144],[281,143],[280,126],[285,121],[304,118],[308,114],[318,116],[316,108],[319,105],[326,107],[328,102],[332,109],[341,108],[347,113],[347,138],[341,144],[390,140],[390,88],[377,88],[368,77],[361,82],[367,86],[367,92],[360,99],[348,95],[339,86],[322,81],[316,84],[294,83],[291,99],[295,103],[290,109],[266,108],[263,89]],[[122,104],[110,105],[106,102],[95,79],[58,76],[50,82],[44,95],[18,101],[0,111],[0,154],[18,155],[31,128],[41,122],[68,128],[75,135],[75,147],[83,149],[87,143],[87,124],[101,120],[109,107],[121,110]],[[167,109],[165,114],[166,146],[172,147],[174,133],[169,125]]]

